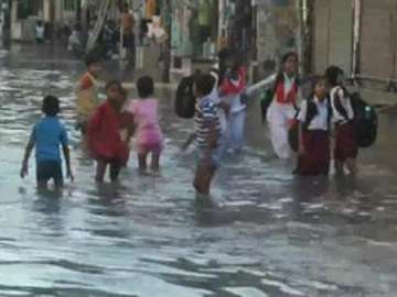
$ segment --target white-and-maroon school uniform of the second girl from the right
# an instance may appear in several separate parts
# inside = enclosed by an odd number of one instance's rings
[[[308,119],[308,100],[302,101],[298,121],[302,127],[304,155],[298,157],[297,174],[328,175],[330,170],[330,103],[329,100],[312,99],[316,114]]]

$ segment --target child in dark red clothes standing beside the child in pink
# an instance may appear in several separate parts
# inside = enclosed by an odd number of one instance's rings
[[[104,182],[107,167],[110,167],[110,180],[116,182],[129,157],[128,140],[121,139],[126,128],[121,108],[127,91],[117,80],[106,86],[107,100],[94,113],[88,123],[88,145],[97,161],[96,182]],[[127,138],[128,139],[128,138]]]

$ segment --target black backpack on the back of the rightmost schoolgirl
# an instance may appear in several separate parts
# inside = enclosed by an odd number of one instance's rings
[[[350,95],[354,110],[356,141],[360,147],[369,147],[376,142],[378,119],[374,107],[363,100],[358,92]]]

